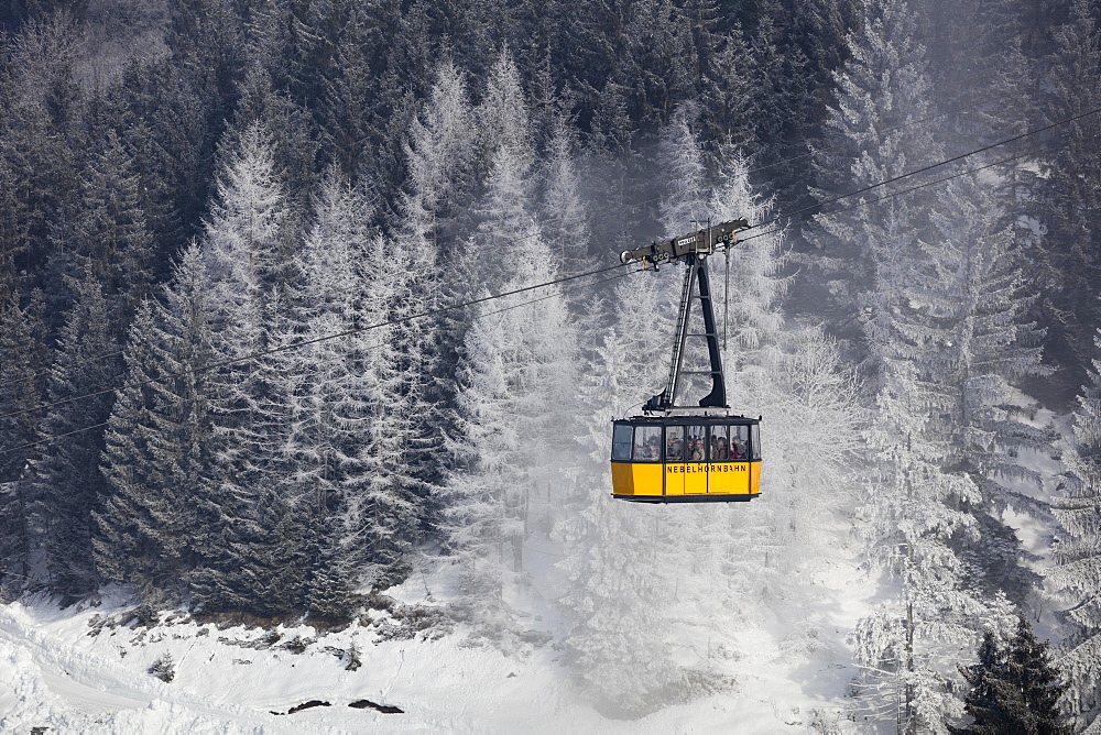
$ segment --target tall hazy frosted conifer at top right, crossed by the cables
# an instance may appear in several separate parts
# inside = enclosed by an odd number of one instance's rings
[[[869,8],[848,43],[850,58],[837,74],[824,140],[813,149],[813,194],[819,199],[897,176],[939,154],[928,125],[909,125],[929,114],[930,83],[908,6],[886,0]],[[896,315],[927,237],[923,197],[914,193],[824,216],[820,229],[808,232],[814,249],[799,257],[816,277],[794,289],[797,308],[808,308],[806,298],[818,314],[825,310],[836,333],[862,341],[872,374],[903,347]],[[853,329],[858,323],[862,334]]]

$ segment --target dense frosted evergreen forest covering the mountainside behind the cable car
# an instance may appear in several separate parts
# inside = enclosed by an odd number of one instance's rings
[[[617,716],[759,617],[854,722],[1101,732],[1099,132],[1095,0],[0,3],[0,601],[443,574]],[[619,253],[737,218],[761,497],[613,501],[680,296]]]

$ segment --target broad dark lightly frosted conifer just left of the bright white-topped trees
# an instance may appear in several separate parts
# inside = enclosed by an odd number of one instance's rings
[[[105,579],[135,584],[156,606],[192,591],[192,572],[228,542],[237,507],[212,474],[216,314],[199,245],[181,256],[165,305],[148,303],[139,314],[108,428],[112,492],[96,516],[96,560]]]

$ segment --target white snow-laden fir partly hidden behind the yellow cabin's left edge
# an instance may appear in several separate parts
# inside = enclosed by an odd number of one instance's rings
[[[653,294],[645,288],[651,283],[624,283],[617,294]],[[612,500],[606,485],[611,419],[631,415],[631,404],[637,408],[643,391],[653,392],[650,380],[661,380],[664,373],[659,366],[655,370],[658,361],[644,355],[655,354],[665,341],[644,345],[631,334],[645,331],[630,323],[608,328],[581,371],[579,405],[585,418],[578,427],[578,449],[584,453],[576,495],[557,529],[566,551],[558,566],[568,575],[558,604],[569,626],[570,665],[598,706],[637,716],[657,706],[663,692],[675,689],[682,678],[662,635],[669,619],[664,612],[667,586],[655,574],[653,555],[623,552],[645,548],[657,518],[646,508]]]

